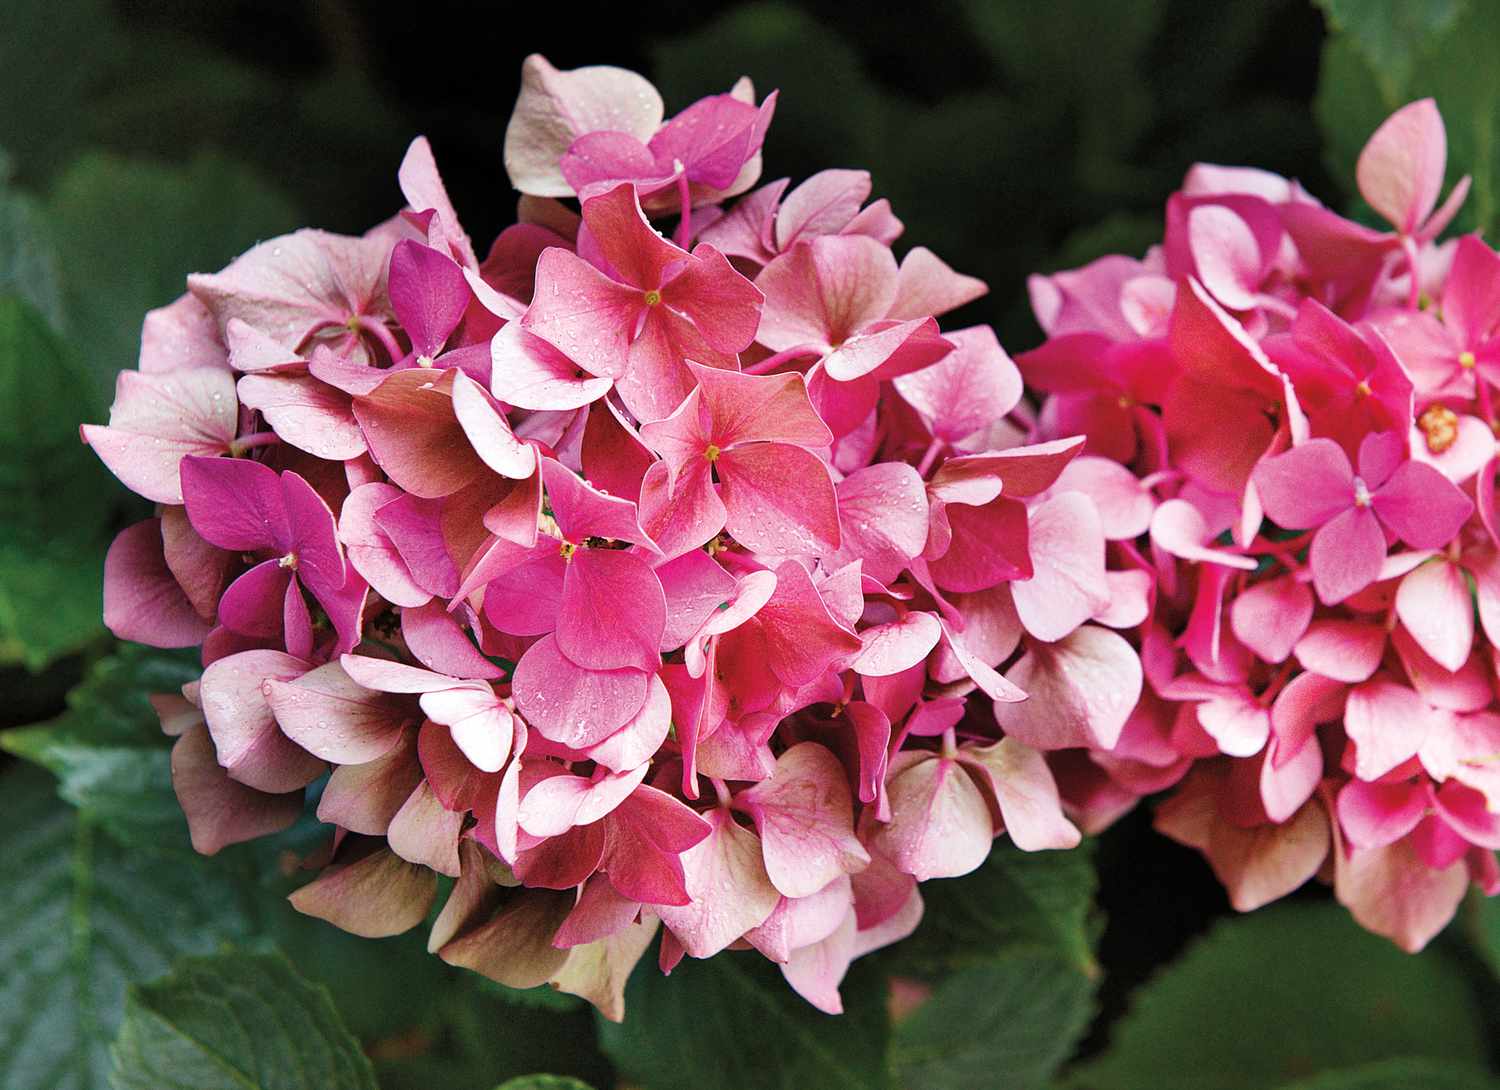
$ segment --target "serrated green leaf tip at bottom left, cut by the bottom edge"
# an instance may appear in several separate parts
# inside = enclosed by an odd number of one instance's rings
[[[130,988],[110,1050],[116,1090],[375,1090],[328,991],[286,958],[183,958]]]

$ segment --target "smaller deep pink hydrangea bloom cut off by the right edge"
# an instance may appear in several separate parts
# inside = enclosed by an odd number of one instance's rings
[[[1437,241],[1444,166],[1431,100],[1359,157],[1388,231],[1194,166],[1144,258],[1032,279],[1017,358],[1028,439],[1088,436],[1062,483],[1150,586],[1118,744],[1050,759],[1068,813],[1172,789],[1234,907],[1318,876],[1407,949],[1500,892],[1500,255]]]

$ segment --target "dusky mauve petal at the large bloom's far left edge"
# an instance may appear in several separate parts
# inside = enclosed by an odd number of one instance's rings
[[[128,526],[104,559],[104,622],[122,640],[192,648],[208,634],[162,552],[160,519]]]

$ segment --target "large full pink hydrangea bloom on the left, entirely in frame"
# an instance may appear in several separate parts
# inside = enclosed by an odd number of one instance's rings
[[[310,792],[297,909],[394,934],[447,876],[435,954],[620,1018],[658,930],[836,1012],[920,882],[1078,841],[1046,751],[1136,708],[1156,574],[1107,543],[1152,484],[1026,442],[994,334],[936,321],[984,285],[897,261],[862,171],[753,187],[774,105],[532,57],[483,258],[417,139],[393,219],[147,316],[84,439],[159,505],[110,627],[201,646],[158,699],[198,850]]]

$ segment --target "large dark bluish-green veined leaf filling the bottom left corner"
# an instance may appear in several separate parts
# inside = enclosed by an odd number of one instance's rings
[[[96,1090],[124,985],[249,931],[212,873],[122,850],[48,777],[0,777],[0,1086]]]

